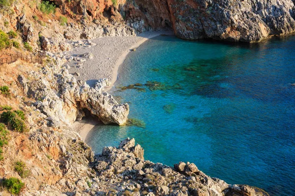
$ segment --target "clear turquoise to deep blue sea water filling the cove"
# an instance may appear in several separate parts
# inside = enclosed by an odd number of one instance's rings
[[[160,90],[118,91],[161,82]],[[145,158],[195,163],[230,184],[295,195],[295,37],[265,43],[148,40],[119,69],[111,94],[145,127],[102,125],[86,142],[96,153],[135,138]]]

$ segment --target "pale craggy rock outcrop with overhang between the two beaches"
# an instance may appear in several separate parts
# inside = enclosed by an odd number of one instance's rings
[[[47,116],[48,125],[59,127],[62,122],[72,123],[85,116],[84,109],[105,124],[124,124],[129,113],[128,104],[118,102],[108,93],[102,93],[102,83],[97,90],[57,65],[49,63],[39,72],[30,72],[27,80],[19,75],[18,81],[28,97],[37,101],[33,105]],[[101,80],[104,81],[104,80]]]

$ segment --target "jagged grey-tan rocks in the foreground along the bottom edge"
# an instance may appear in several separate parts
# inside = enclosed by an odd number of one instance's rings
[[[104,147],[90,163],[97,172],[91,180],[91,187],[87,186],[85,178],[76,179],[76,194],[83,194],[83,190],[93,187],[93,194],[99,195],[131,195],[132,192],[132,196],[268,196],[258,188],[229,185],[211,178],[194,164],[180,162],[175,169],[144,160],[143,154],[142,147],[129,138],[118,147]],[[68,160],[67,163],[72,162]],[[71,173],[73,169],[66,170],[65,175]],[[69,185],[74,183],[71,179],[61,179],[58,185],[61,190],[70,191]]]

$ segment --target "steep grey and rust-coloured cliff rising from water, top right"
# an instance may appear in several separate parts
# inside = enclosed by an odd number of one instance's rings
[[[169,26],[183,39],[257,42],[295,31],[291,0],[135,0],[129,16],[151,28]],[[168,9],[168,10],[167,10]]]

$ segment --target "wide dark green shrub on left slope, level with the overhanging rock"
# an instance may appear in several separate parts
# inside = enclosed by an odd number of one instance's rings
[[[1,122],[6,123],[9,128],[23,133],[27,131],[27,126],[22,117],[19,117],[15,111],[6,111],[1,114]]]

